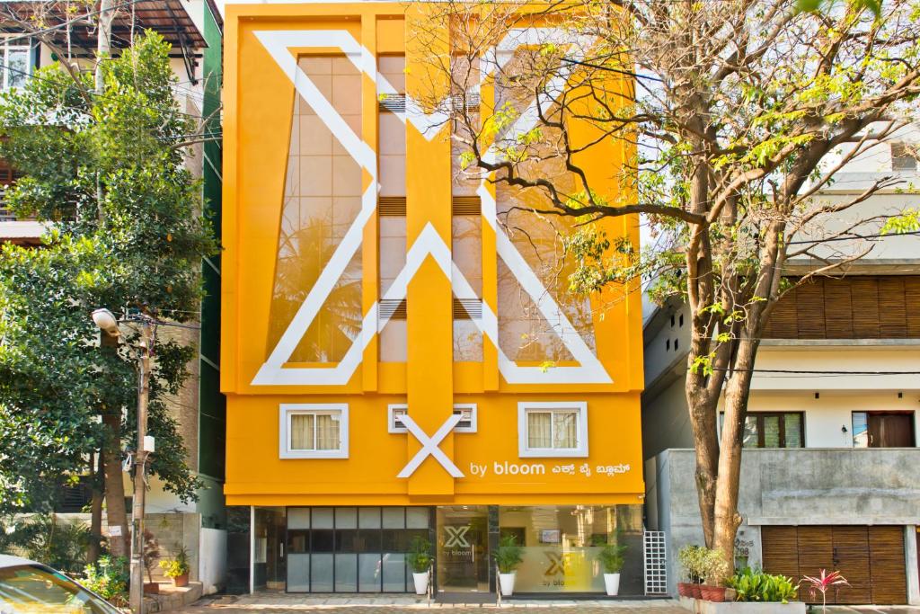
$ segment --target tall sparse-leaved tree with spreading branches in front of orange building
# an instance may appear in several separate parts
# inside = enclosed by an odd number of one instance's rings
[[[566,237],[582,263],[571,290],[646,276],[653,295],[689,307],[685,393],[703,532],[732,562],[761,334],[790,287],[844,272],[872,247],[857,237],[886,222],[858,214],[895,174],[843,202],[822,190],[914,121],[920,6],[449,0],[428,10],[409,40],[429,50],[421,61],[441,78],[411,102],[451,124],[467,179],[537,193],[542,204],[521,208],[577,220]],[[482,117],[480,96],[491,110]],[[632,152],[627,163],[604,176],[587,170],[583,161],[612,144]],[[611,177],[619,189],[604,191]],[[627,214],[647,216],[652,249],[594,224]],[[812,266],[790,279],[790,259]]]

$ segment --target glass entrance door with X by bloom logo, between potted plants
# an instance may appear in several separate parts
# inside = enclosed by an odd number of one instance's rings
[[[438,592],[489,592],[489,507],[437,508]]]

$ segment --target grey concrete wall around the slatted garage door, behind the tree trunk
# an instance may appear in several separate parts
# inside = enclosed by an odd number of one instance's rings
[[[703,542],[695,462],[687,449],[666,450],[646,462],[649,514],[654,510],[654,525],[668,534],[672,587],[679,573],[677,551]],[[738,545],[757,564],[762,525],[920,524],[917,467],[915,448],[745,450]],[[911,565],[915,568],[915,554]]]

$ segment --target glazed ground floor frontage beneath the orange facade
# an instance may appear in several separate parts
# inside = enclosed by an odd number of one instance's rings
[[[640,505],[235,506],[228,525],[229,592],[411,593],[422,543],[435,594],[465,602],[495,592],[503,538],[522,547],[516,594],[601,594],[614,545],[627,546],[620,595],[645,591]]]

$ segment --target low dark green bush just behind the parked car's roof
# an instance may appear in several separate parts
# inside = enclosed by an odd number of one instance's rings
[[[54,514],[26,516],[9,528],[0,551],[43,562],[65,573],[76,573],[86,565],[89,527],[79,520],[62,520]]]

